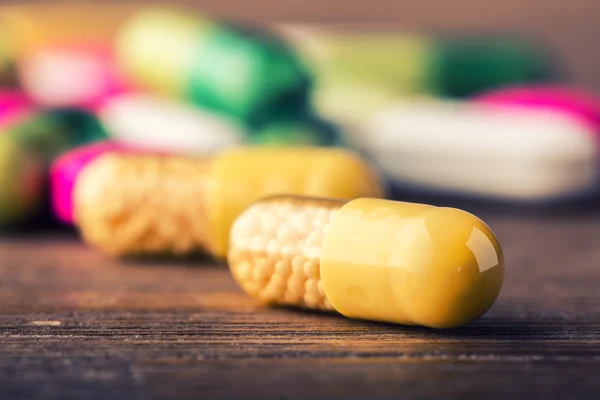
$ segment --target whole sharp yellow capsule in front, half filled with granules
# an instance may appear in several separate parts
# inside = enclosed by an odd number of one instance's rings
[[[273,231],[253,223],[261,219],[275,220],[295,235],[277,248],[249,248],[246,243],[255,238],[274,240]],[[297,219],[307,224],[293,224]],[[295,253],[283,254],[285,246]],[[300,256],[314,267],[293,268]],[[263,257],[291,262],[293,269],[279,298],[271,296],[268,303],[433,328],[457,327],[481,316],[504,279],[500,244],[479,218],[453,208],[381,199],[259,201],[234,223],[228,257],[236,281],[258,298],[255,293],[266,284],[249,281],[242,267],[247,274]]]

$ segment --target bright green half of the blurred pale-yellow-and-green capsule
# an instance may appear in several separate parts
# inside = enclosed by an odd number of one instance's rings
[[[191,99],[238,120],[262,122],[302,108],[308,99],[304,67],[268,33],[213,25],[193,65]]]

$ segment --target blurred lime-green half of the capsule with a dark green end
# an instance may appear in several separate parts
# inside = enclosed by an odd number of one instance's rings
[[[399,96],[428,91],[425,37],[297,24],[278,30],[315,72],[316,109],[336,123],[363,122]]]

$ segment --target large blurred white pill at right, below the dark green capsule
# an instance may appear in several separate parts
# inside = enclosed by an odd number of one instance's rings
[[[593,130],[551,111],[407,102],[372,118],[365,134],[393,181],[436,194],[553,201],[598,188]]]

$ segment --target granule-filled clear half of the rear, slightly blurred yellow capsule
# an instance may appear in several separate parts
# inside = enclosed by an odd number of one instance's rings
[[[208,169],[204,159],[99,157],[75,186],[76,220],[84,238],[113,255],[204,251]]]

